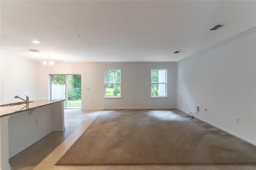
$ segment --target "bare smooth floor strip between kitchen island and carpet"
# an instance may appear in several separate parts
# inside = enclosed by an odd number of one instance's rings
[[[12,170],[256,170],[256,166],[54,167],[54,164],[100,113],[101,111],[65,110],[66,130],[51,132],[10,158]]]

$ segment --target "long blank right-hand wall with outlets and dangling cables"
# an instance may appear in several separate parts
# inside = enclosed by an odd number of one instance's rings
[[[254,31],[177,64],[177,108],[195,113],[199,106],[199,119],[253,144],[256,144],[255,39]]]

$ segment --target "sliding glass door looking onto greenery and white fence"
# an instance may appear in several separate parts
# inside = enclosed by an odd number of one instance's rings
[[[50,99],[66,99],[65,109],[81,108],[81,75],[50,75]]]

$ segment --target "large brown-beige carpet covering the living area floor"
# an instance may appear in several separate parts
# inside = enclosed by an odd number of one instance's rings
[[[255,165],[256,147],[178,110],[106,110],[55,166]]]

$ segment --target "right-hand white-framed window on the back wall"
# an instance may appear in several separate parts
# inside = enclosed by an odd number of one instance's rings
[[[151,97],[167,97],[166,69],[151,69]]]

